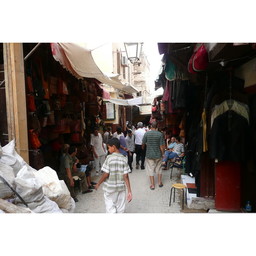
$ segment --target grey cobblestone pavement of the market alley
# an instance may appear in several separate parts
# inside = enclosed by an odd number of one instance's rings
[[[125,203],[125,213],[202,213],[206,210],[188,209],[184,201],[184,209],[182,209],[182,190],[176,189],[175,202],[169,207],[170,193],[172,184],[181,183],[181,169],[173,169],[172,179],[170,179],[171,169],[163,170],[162,183],[163,187],[158,187],[158,177],[154,175],[155,189],[151,190],[149,176],[146,175],[145,169],[135,169],[136,161],[134,154],[134,162],[132,164],[132,173],[129,173],[131,184],[132,200],[130,203]],[[95,176],[95,168],[91,172],[91,179],[95,182],[99,181],[101,174]],[[101,184],[98,190],[93,189],[93,192],[82,194],[79,190],[75,190],[76,198],[79,200],[76,203],[75,213],[105,213],[104,191]],[[127,192],[127,190],[126,190]],[[185,196],[185,195],[184,195]]]

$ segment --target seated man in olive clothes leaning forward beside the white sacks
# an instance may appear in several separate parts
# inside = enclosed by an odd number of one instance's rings
[[[84,172],[78,172],[76,169],[76,164],[79,163],[79,160],[76,158],[77,148],[72,146],[68,149],[68,153],[61,160],[60,171],[58,177],[60,180],[64,180],[70,195],[75,202],[78,202],[76,194],[74,191],[74,181],[73,176],[78,176],[81,180],[82,194],[93,192],[93,190],[88,189],[88,184]]]

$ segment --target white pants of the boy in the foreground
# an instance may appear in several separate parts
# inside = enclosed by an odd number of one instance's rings
[[[125,195],[125,190],[113,193],[104,191],[106,213],[124,213]]]

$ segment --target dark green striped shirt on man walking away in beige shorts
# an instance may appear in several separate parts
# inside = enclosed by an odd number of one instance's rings
[[[147,143],[146,157],[156,159],[162,157],[160,145],[165,145],[163,134],[160,131],[150,130],[145,132],[142,143]]]

